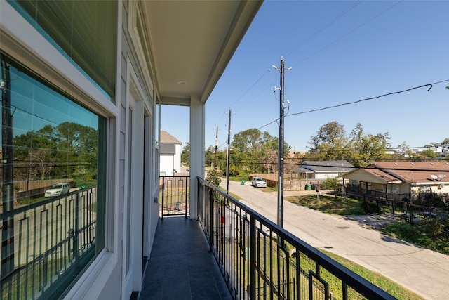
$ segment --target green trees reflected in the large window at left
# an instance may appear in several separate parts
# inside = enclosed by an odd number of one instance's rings
[[[89,126],[63,122],[16,136],[18,178],[74,178],[97,176],[98,132]]]

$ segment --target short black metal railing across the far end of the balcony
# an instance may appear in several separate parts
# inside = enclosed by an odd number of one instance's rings
[[[164,216],[185,216],[189,210],[190,176],[159,176],[161,219]]]

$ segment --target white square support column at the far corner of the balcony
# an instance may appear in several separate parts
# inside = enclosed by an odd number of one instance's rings
[[[198,218],[198,180],[204,178],[205,104],[198,97],[190,98],[190,218]]]

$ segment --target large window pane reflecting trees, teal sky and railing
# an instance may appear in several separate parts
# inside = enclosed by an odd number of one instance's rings
[[[53,299],[104,248],[106,122],[0,58],[1,297]]]

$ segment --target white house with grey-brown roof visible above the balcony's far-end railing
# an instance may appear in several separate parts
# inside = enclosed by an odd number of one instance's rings
[[[181,144],[167,131],[161,131],[161,176],[173,176],[181,171]]]

